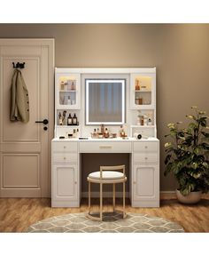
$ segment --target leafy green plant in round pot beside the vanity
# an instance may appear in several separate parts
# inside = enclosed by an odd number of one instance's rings
[[[209,133],[206,132],[207,116],[205,111],[191,107],[194,115],[187,128],[181,128],[182,122],[167,124],[170,141],[166,142],[166,169],[164,175],[173,172],[179,188],[176,196],[186,204],[197,203],[202,193],[209,191]]]

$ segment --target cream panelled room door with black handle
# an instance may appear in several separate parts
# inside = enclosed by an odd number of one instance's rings
[[[0,39],[0,58],[0,196],[50,196],[54,39]],[[10,121],[12,62],[25,62],[27,124]],[[49,120],[46,131],[35,123],[43,119]]]

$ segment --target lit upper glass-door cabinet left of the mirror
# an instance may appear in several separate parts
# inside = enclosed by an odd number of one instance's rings
[[[81,108],[81,74],[56,68],[55,100],[57,109]]]

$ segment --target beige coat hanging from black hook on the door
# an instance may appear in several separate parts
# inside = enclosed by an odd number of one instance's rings
[[[26,84],[19,69],[15,69],[11,87],[11,121],[29,121],[29,97]]]

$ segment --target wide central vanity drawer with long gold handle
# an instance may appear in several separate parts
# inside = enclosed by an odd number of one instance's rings
[[[131,142],[80,142],[81,153],[131,153]]]

